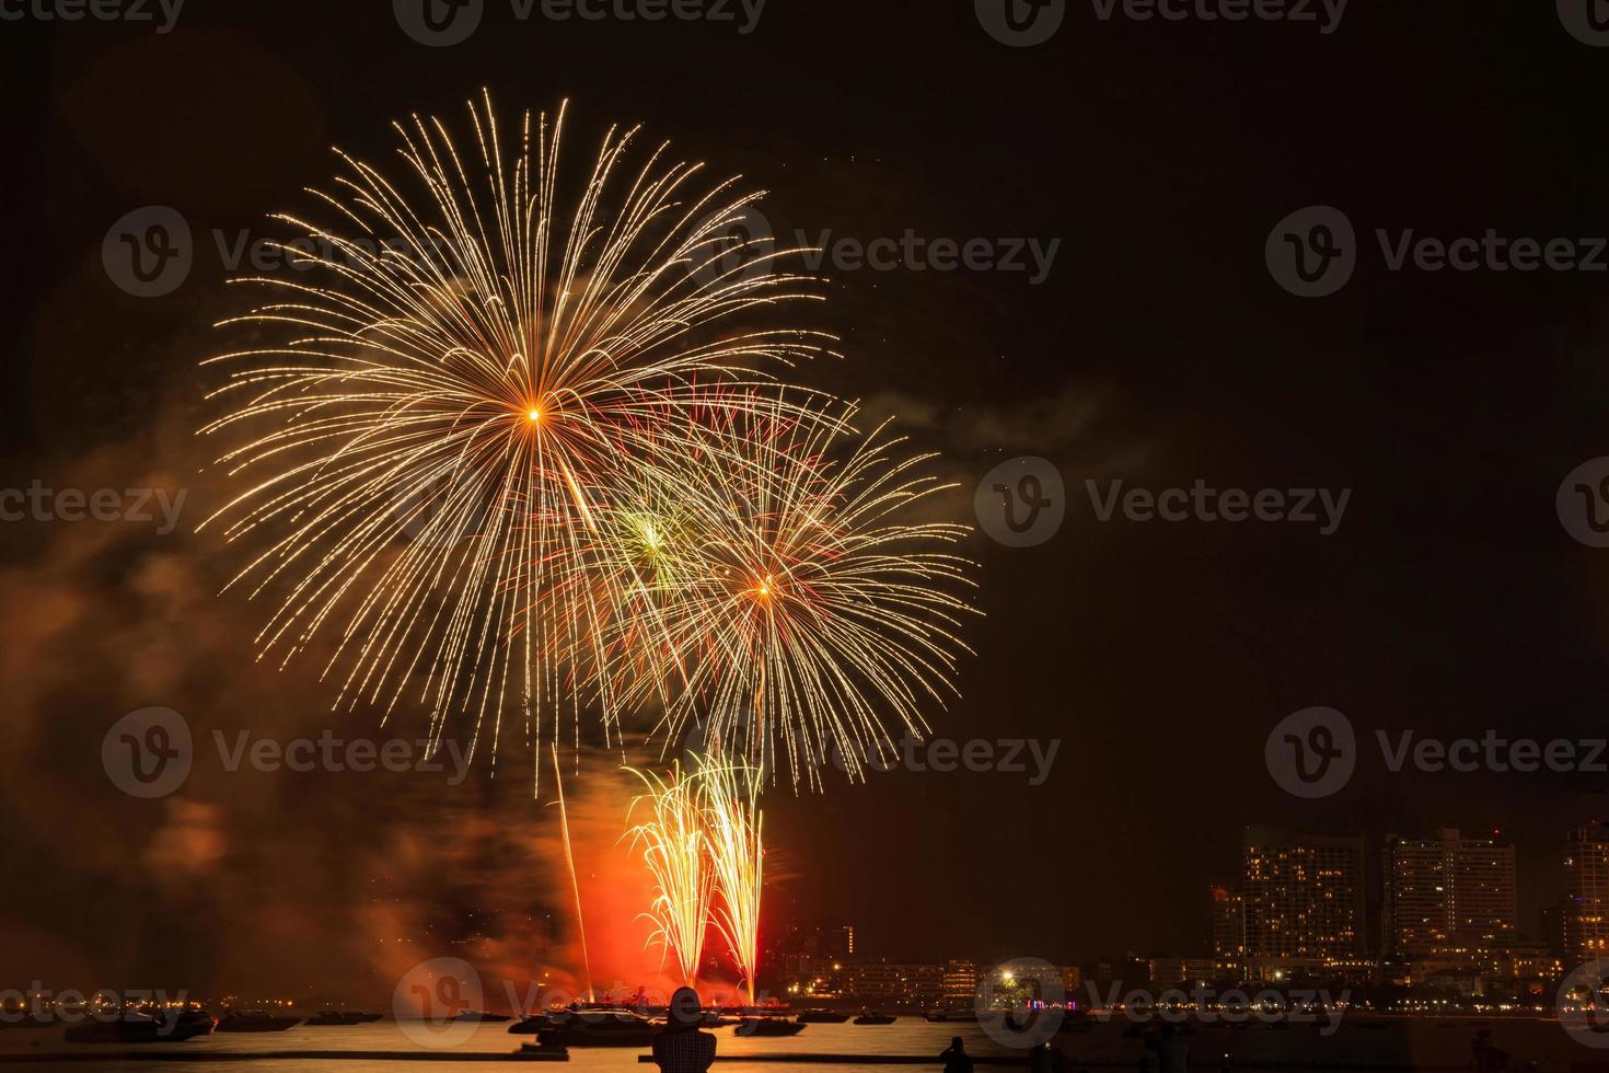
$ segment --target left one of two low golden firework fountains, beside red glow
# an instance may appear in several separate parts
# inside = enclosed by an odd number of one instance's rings
[[[655,931],[648,941],[660,946],[661,957],[676,959],[682,983],[695,986],[714,891],[695,779],[679,766],[668,777],[629,771],[642,779],[645,793],[632,800],[628,822],[640,806],[648,811],[647,819],[626,830],[655,883],[647,912]]]

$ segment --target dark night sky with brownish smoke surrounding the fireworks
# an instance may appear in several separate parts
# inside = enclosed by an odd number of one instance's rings
[[[331,145],[385,159],[393,117],[462,122],[481,87],[505,113],[568,97],[579,145],[644,122],[769,190],[782,235],[1060,241],[1039,285],[827,272],[813,315],[845,359],[800,378],[943,450],[957,518],[1014,455],[1067,483],[1051,541],[973,539],[988,618],[969,632],[964,700],[932,719],[961,742],[1060,746],[1036,787],[896,771],[771,795],[776,920],[853,920],[862,949],[912,959],[1197,952],[1205,886],[1232,882],[1255,822],[1501,828],[1532,930],[1562,832],[1601,811],[1604,777],[1389,774],[1372,738],[1606,734],[1609,552],[1570,539],[1554,492],[1609,454],[1609,273],[1390,272],[1374,232],[1609,235],[1609,50],[1540,2],[1358,0],[1327,35],[1067,6],[1031,48],[948,0],[769,0],[748,34],[521,23],[488,0],[449,48],[410,40],[385,3],[190,0],[167,34],[8,23],[3,484],[188,487],[190,502],[171,536],[0,528],[3,838],[26,877],[0,976],[357,988],[430,956],[422,936],[491,931],[488,956],[531,959],[563,941],[545,923],[563,912],[552,809],[518,777],[444,790],[211,771],[142,803],[100,767],[101,735],[146,705],[198,734],[370,726],[330,722],[311,664],[253,663],[256,610],[212,595],[230,557],[187,536],[222,494],[191,439],[196,362],[228,309],[211,235],[274,233],[264,217],[307,206]],[[200,236],[161,298],[124,294],[101,264],[106,230],[146,204]],[[1281,290],[1263,256],[1310,204],[1360,238],[1355,277],[1323,299]],[[1102,523],[1084,479],[1352,499],[1331,536]],[[1368,745],[1347,788],[1302,801],[1270,779],[1263,743],[1315,705]],[[397,935],[405,954],[375,956]]]

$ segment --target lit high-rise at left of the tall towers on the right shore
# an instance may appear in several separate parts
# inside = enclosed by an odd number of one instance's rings
[[[1247,827],[1242,853],[1249,959],[1318,964],[1364,951],[1361,837]]]

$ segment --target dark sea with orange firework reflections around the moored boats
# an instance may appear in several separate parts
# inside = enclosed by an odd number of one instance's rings
[[[375,1022],[368,1025],[309,1028],[299,1025],[282,1033],[230,1033],[179,1044],[69,1044],[60,1028],[8,1028],[0,1031],[0,1070],[161,1070],[190,1073],[240,1073],[241,1070],[291,1070],[293,1073],[365,1073],[368,1070],[454,1070],[478,1068],[507,1059],[531,1036],[513,1036],[507,1025],[459,1026],[465,1034],[451,1046],[418,1023]],[[1144,1033],[1126,1020],[1093,1023],[1086,1031],[1062,1033],[1054,1046],[1067,1057],[1067,1070],[1139,1070],[1147,1059]],[[1509,1070],[1578,1073],[1603,1068],[1609,1073],[1609,1033],[1572,1034],[1553,1020],[1432,1020],[1432,1018],[1342,1018],[1324,1034],[1323,1023],[1276,1030],[1261,1023],[1244,1028],[1187,1025],[1189,1065],[1200,1070],[1467,1070],[1479,1031],[1488,1044],[1509,1055]],[[732,1028],[714,1030],[716,1068],[730,1063],[750,1073],[782,1073],[801,1068],[833,1068],[845,1073],[888,1070],[899,1055],[924,1062],[906,1068],[941,1068],[938,1060],[951,1036],[962,1036],[980,1068],[1025,1065],[1023,1050],[1001,1046],[970,1023],[928,1023],[903,1017],[893,1025],[809,1025],[792,1038],[743,1038]],[[121,1059],[124,1052],[138,1060]],[[322,1052],[322,1054],[317,1054]],[[631,1047],[571,1047],[568,1063],[541,1063],[552,1068],[619,1071],[652,1070],[639,1063]],[[341,1057],[351,1055],[351,1057]],[[385,1057],[377,1057],[385,1055]],[[811,1055],[833,1055],[813,1060]],[[925,1060],[925,1059],[932,1060]],[[76,1059],[76,1060],[74,1060]],[[792,1060],[780,1060],[792,1059]],[[1150,1067],[1154,1068],[1154,1067]]]

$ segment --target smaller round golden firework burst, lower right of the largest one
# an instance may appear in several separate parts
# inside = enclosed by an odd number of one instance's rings
[[[785,759],[795,788],[835,758],[864,777],[893,727],[924,734],[975,610],[949,550],[967,529],[912,520],[951,487],[930,455],[896,457],[882,426],[851,439],[853,407],[798,413],[748,394],[698,415],[600,516],[599,555],[623,706],[658,709],[663,742],[695,729],[772,777]]]

